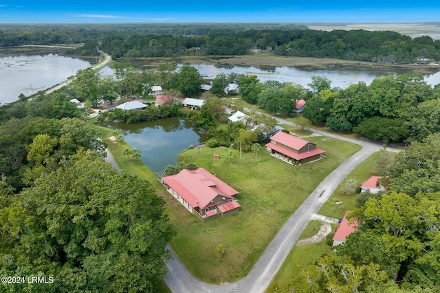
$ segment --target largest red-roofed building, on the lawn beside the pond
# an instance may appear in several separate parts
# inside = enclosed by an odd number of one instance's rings
[[[206,169],[183,169],[178,174],[163,177],[162,181],[168,191],[203,222],[214,215],[219,218],[240,209],[240,204],[234,198],[239,191]]]

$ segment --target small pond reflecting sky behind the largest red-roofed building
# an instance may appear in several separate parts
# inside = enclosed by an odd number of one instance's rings
[[[192,124],[176,117],[139,124],[111,124],[104,126],[120,129],[131,148],[142,152],[142,161],[153,171],[164,171],[168,165],[176,165],[179,154],[190,145],[206,141]]]

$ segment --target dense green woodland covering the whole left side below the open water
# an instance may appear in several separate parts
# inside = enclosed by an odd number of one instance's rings
[[[158,292],[174,233],[164,200],[104,161],[65,91],[0,107],[0,273],[47,281],[0,292]]]

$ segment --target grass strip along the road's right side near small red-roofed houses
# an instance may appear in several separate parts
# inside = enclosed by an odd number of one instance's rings
[[[370,178],[370,176],[377,176],[377,174],[374,172],[374,163],[377,159],[377,155],[378,153],[376,152],[369,156],[368,159],[360,163],[360,165],[358,165],[358,167],[356,167],[347,176],[347,179],[355,179],[358,181],[358,185],[360,186],[365,180]],[[355,209],[356,198],[358,198],[359,194],[353,194],[352,196],[342,195],[341,189],[344,183],[345,180],[333,192],[329,200],[325,202],[320,211],[318,211],[319,215],[327,215],[328,217],[338,219],[342,218],[346,211],[353,211],[353,209]],[[336,205],[336,202],[338,201],[342,202],[342,204]],[[319,230],[319,226],[320,224],[318,221],[312,220],[309,223],[309,226],[305,228],[299,239],[311,237],[311,235],[314,235],[314,231],[316,233]],[[300,267],[297,265],[298,261],[307,266],[308,264],[314,263],[316,258],[318,258],[320,255],[323,253],[329,253],[329,251],[330,248],[327,246],[327,244],[325,244],[325,241],[307,246],[294,246],[292,251],[289,253],[289,256],[283,263],[283,266],[274,277],[272,285],[278,285],[281,288],[285,287],[289,283],[290,279],[300,272]]]

